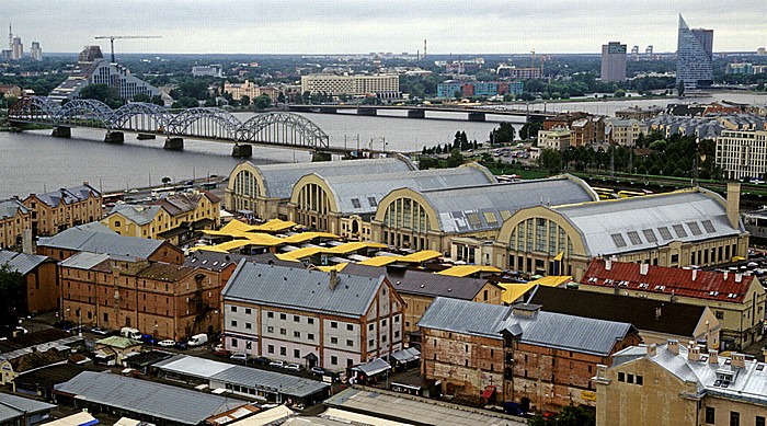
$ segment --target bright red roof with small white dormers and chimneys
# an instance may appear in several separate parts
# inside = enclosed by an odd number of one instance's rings
[[[758,279],[755,276],[744,276],[734,273],[719,273],[683,269],[677,267],[646,265],[646,274],[641,274],[642,265],[636,263],[611,262],[607,269],[607,261],[595,258],[581,279],[581,285],[597,287],[615,287],[619,290],[644,291],[651,293],[672,293],[679,297],[719,300],[742,303],[752,284]],[[695,279],[692,276],[695,274]]]

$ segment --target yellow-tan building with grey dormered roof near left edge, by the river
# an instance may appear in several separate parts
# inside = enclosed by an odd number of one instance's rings
[[[83,183],[46,194],[30,194],[22,203],[32,211],[32,234],[49,237],[101,219],[103,202],[99,191]]]

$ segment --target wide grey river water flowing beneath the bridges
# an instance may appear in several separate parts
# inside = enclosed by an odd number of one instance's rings
[[[705,103],[734,101],[764,105],[767,96],[743,93],[718,93],[712,97],[687,99]],[[547,103],[547,111],[587,111],[613,114],[617,110],[640,105],[664,106],[668,100],[599,101],[588,103]],[[515,106],[519,107],[519,106]],[[543,104],[531,104],[530,110],[543,110]],[[330,135],[330,143],[354,149],[373,148],[390,151],[420,151],[424,146],[451,143],[456,131],[466,131],[469,140],[488,140],[500,120],[512,120],[518,129],[522,118],[488,115],[490,122],[468,122],[462,114],[433,114],[437,119],[409,119],[407,113],[387,112],[390,116],[357,116],[354,114],[305,114]],[[428,114],[428,113],[427,113]],[[245,122],[252,114],[236,114]],[[105,192],[127,187],[158,185],[164,176],[173,182],[208,175],[226,176],[240,161],[231,158],[231,145],[186,139],[184,151],[162,149],[163,138],[137,140],[126,134],[124,145],[103,142],[104,131],[72,129],[71,139],[57,139],[50,130],[0,133],[0,199],[13,195],[25,197],[31,193],[54,191],[89,182]],[[359,142],[357,142],[357,140]],[[274,148],[253,148],[254,163],[307,162],[308,152]],[[310,171],[309,165],[307,170]]]

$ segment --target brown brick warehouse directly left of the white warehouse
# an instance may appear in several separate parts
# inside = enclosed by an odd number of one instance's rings
[[[59,265],[64,319],[180,341],[220,331],[214,270],[80,253]]]

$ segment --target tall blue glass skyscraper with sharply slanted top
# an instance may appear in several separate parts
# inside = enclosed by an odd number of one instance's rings
[[[690,30],[679,15],[676,53],[676,83],[685,89],[703,89],[713,84],[713,30]]]

